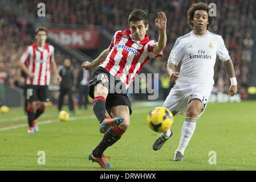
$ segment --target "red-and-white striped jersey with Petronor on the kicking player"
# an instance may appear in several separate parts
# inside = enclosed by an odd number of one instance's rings
[[[149,40],[148,34],[143,40],[132,39],[131,30],[117,31],[109,46],[107,58],[99,65],[111,75],[118,77],[128,89],[136,74],[149,59],[162,56],[153,53],[154,40]]]

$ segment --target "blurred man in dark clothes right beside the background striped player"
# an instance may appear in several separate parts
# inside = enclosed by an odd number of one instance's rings
[[[74,86],[74,68],[71,66],[70,59],[64,59],[64,65],[58,68],[59,75],[62,77],[60,82],[60,95],[59,95],[59,111],[62,110],[63,98],[68,94],[68,106],[70,113],[74,114],[74,102],[72,98],[72,88]]]

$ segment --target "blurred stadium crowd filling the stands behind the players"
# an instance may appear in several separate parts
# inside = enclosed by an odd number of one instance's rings
[[[37,1],[16,0],[30,11],[31,15],[36,16]],[[42,1],[44,2],[44,1]],[[112,34],[117,30],[128,28],[127,18],[129,13],[135,9],[144,9],[148,13],[149,30],[151,39],[156,40],[158,31],[155,26],[157,12],[164,11],[168,18],[167,35],[168,42],[164,49],[163,57],[151,60],[150,63],[155,68],[161,70],[162,79],[168,77],[166,74],[166,60],[172,49],[175,40],[186,33],[191,28],[187,23],[187,11],[193,2],[198,1],[118,1],[118,0],[95,0],[95,1],[46,1],[47,23],[66,23],[66,24],[87,24],[100,25]],[[207,1],[206,1],[207,2]],[[255,1],[211,1],[216,3],[217,16],[213,27],[209,31],[220,34],[224,38],[231,60],[234,63],[235,76],[238,86],[247,88],[249,85],[248,75],[252,58],[254,40],[252,38],[255,27],[254,7]],[[208,2],[210,3],[210,1]],[[1,9],[1,8],[0,8]],[[23,79],[17,72],[17,61],[22,55],[25,47],[32,43],[33,38],[26,34],[29,23],[25,18],[19,17],[11,11],[3,10],[0,12],[0,72],[2,69],[7,73],[6,84],[20,86]],[[55,51],[55,60],[58,65],[62,64],[65,55]],[[76,66],[75,73],[78,72]],[[229,78],[224,71],[221,61],[217,59],[216,81],[214,91],[221,90],[227,92],[229,88]],[[165,82],[166,88],[166,82]],[[168,87],[168,85],[167,85]]]

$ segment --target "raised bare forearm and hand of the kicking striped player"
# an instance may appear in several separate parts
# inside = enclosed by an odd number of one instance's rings
[[[163,13],[161,11],[161,13],[157,13],[158,14],[158,18],[156,19],[156,27],[159,30],[159,40],[158,42],[154,45],[153,48],[153,53],[155,53],[155,55],[159,54],[162,49],[165,48],[166,46],[166,15],[165,13]]]

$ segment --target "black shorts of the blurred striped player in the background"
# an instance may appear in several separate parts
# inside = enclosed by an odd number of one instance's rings
[[[27,85],[27,101],[49,101],[48,85]]]

